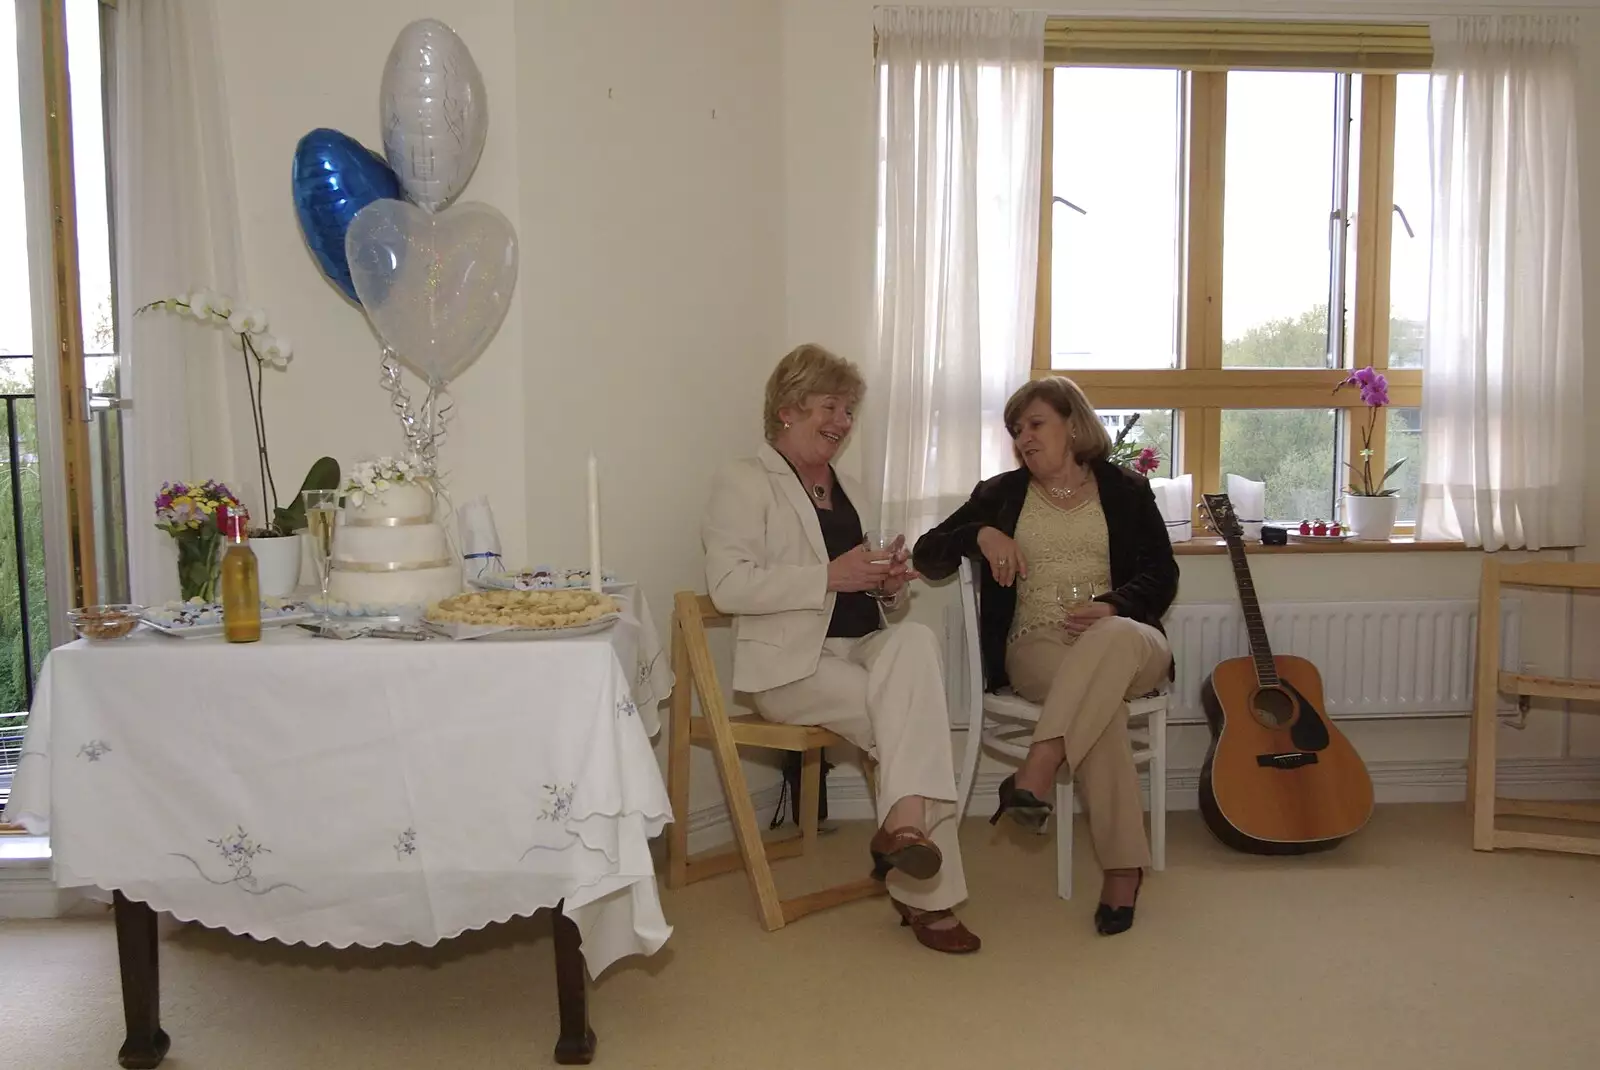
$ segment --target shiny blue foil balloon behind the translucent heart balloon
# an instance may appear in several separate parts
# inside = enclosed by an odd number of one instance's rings
[[[355,138],[318,126],[294,146],[293,181],[294,214],[306,245],[322,273],[360,304],[344,256],[344,232],[355,213],[374,200],[398,200],[400,179],[381,155]]]

